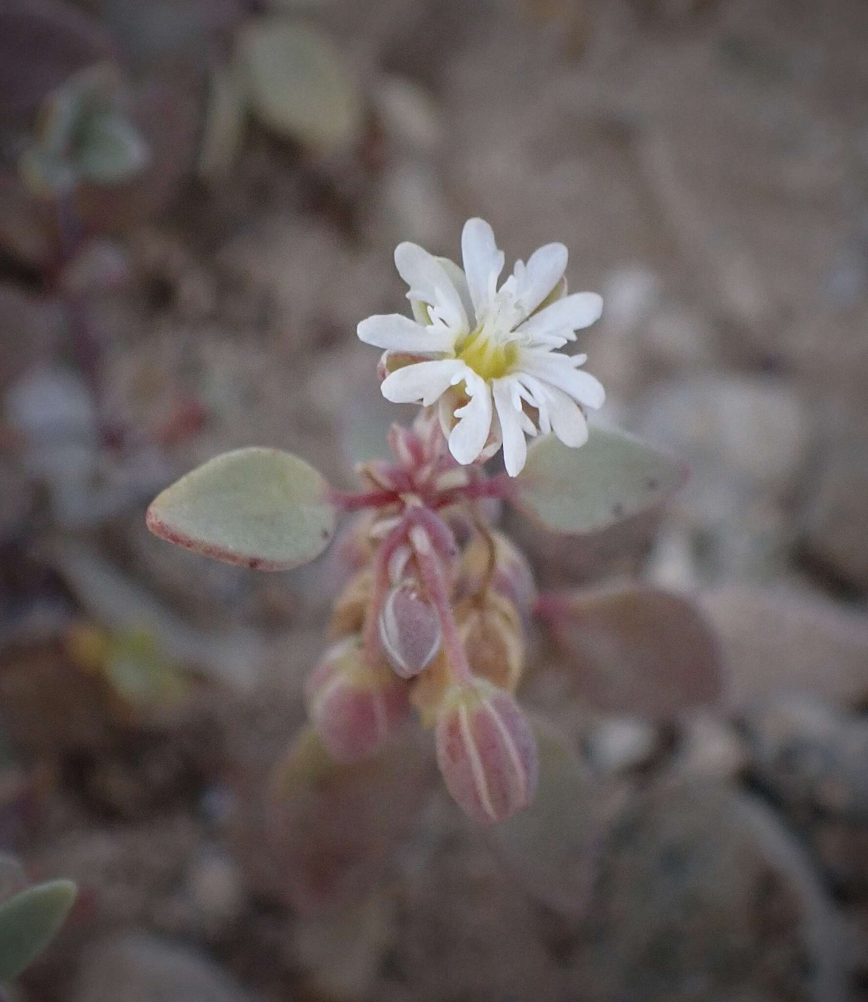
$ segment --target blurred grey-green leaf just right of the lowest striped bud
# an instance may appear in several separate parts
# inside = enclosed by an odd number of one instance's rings
[[[602,788],[592,783],[552,724],[539,718],[533,722],[540,754],[534,802],[509,821],[492,825],[486,836],[534,897],[578,915],[592,891]]]

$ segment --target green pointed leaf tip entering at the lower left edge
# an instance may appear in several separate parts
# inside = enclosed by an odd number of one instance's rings
[[[0,981],[32,963],[57,935],[75,900],[75,885],[49,881],[0,905]]]

